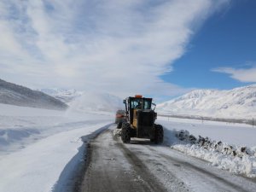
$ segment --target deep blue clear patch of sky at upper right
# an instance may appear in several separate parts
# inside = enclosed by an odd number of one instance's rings
[[[233,1],[195,33],[186,53],[162,76],[186,88],[232,89],[256,82],[256,1]],[[248,70],[252,79],[231,78],[219,67]],[[219,72],[224,70],[218,70]],[[248,74],[249,75],[249,74]]]

